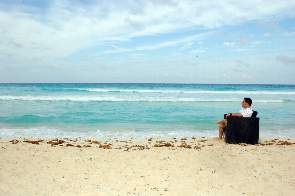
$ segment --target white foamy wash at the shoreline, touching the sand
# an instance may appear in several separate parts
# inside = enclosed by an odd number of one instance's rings
[[[130,129],[112,131],[64,131],[49,127],[37,128],[2,128],[0,137],[33,137],[33,138],[97,138],[97,139],[125,139],[125,138],[184,138],[184,137],[217,137],[218,130],[191,131],[134,131]],[[260,130],[259,137],[289,137],[295,136],[295,129],[288,130]]]

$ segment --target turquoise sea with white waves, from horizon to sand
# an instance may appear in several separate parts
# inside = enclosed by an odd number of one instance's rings
[[[217,137],[244,97],[259,136],[295,136],[295,85],[0,84],[0,137]]]

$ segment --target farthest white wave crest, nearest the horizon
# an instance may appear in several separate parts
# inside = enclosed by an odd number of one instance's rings
[[[136,90],[136,89],[103,89],[75,88],[93,92],[142,92],[142,93],[213,93],[213,94],[266,94],[266,95],[295,95],[294,91],[182,91],[182,90]]]

